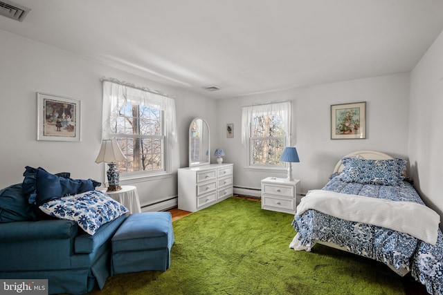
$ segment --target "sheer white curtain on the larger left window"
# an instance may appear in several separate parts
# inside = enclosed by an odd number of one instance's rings
[[[177,143],[177,122],[175,117],[174,99],[147,88],[137,88],[132,84],[120,82],[113,78],[102,79],[103,83],[103,117],[102,137],[110,139],[112,136],[112,122],[115,122],[120,108],[127,102],[159,108],[163,111],[165,134],[168,135],[170,146]]]

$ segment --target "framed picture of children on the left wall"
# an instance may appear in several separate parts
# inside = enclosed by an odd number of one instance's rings
[[[37,140],[80,142],[80,100],[37,93]]]

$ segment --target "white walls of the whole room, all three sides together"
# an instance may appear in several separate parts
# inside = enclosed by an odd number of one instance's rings
[[[188,166],[188,127],[194,117],[204,117],[208,121],[211,150],[224,148],[225,162],[235,164],[235,186],[259,188],[260,180],[270,173],[244,169],[246,154],[241,144],[242,106],[290,100],[293,108],[291,145],[297,146],[301,161],[293,164],[293,175],[302,181],[302,192],[323,187],[336,162],[346,153],[374,149],[401,158],[410,156],[413,176],[416,176],[425,200],[443,208],[443,201],[437,193],[438,180],[442,179],[442,156],[437,152],[442,148],[441,132],[437,129],[440,126],[437,120],[443,108],[441,35],[413,71],[411,86],[410,75],[404,73],[219,101],[159,84],[1,30],[0,39],[0,187],[21,182],[26,165],[42,166],[54,173],[70,171],[73,178],[105,180],[105,165],[95,164],[94,160],[101,137],[100,78],[106,76],[157,89],[175,97],[179,141],[172,155],[174,173],[168,178],[131,182],[138,187],[142,205],[177,195],[175,172],[179,167]],[[36,140],[37,92],[82,101],[81,142]],[[330,140],[330,105],[362,101],[367,102],[368,138]],[[234,124],[234,138],[226,138],[228,123]],[[215,159],[212,161],[215,162]],[[284,177],[285,173],[273,175]]]

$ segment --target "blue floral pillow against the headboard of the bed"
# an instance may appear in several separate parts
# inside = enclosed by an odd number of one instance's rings
[[[343,158],[345,169],[341,180],[361,184],[398,185],[404,180],[404,171],[408,163],[403,159],[365,160]]]

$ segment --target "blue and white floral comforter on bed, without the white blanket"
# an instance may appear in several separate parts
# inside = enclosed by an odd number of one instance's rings
[[[338,175],[332,175],[323,189],[424,204],[413,185],[406,181],[395,186],[361,184],[344,182]],[[354,254],[378,260],[395,269],[410,269],[412,276],[424,284],[430,294],[443,294],[443,235],[440,229],[436,244],[431,245],[408,234],[341,220],[315,210],[296,215],[292,225],[298,233],[299,245],[307,251],[314,247],[315,240],[333,242]]]

